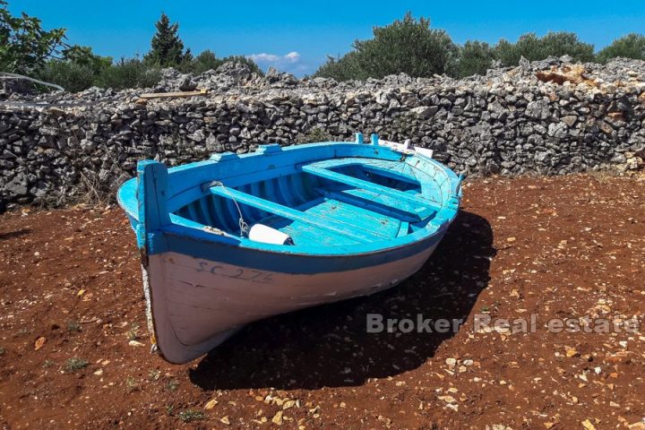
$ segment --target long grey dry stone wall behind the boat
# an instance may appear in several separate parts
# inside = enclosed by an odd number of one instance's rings
[[[466,174],[561,175],[640,168],[645,63],[569,64],[550,58],[486,76],[366,82],[298,81],[224,64],[200,76],[164,72],[159,88],[90,89],[0,99],[0,210],[114,193],[139,159],[177,165],[258,144],[411,139]],[[190,99],[143,92],[207,88]]]

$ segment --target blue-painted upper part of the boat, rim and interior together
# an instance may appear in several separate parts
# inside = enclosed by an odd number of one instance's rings
[[[149,185],[141,191],[141,185],[147,181],[128,181],[119,190],[118,200],[138,232],[137,236],[141,237],[140,242],[150,245],[151,254],[164,250],[178,252],[180,249],[188,253],[188,248],[193,246],[195,252],[188,254],[208,255],[208,250],[211,249],[214,254],[209,258],[215,258],[215,255],[225,252],[219,250],[219,246],[226,246],[226,253],[232,249],[253,249],[269,254],[351,256],[382,253],[443,236],[459,209],[460,177],[433,159],[401,154],[381,146],[376,135],[371,136],[370,141],[372,144],[360,144],[363,138],[362,135],[357,135],[356,142],[323,142],[282,148],[270,145],[243,155],[215,154],[209,160],[170,168],[168,171],[160,165],[162,169],[159,174],[166,175],[165,185],[155,180],[152,181],[153,186]],[[330,166],[334,163],[340,166],[342,163],[337,162],[340,159],[345,164],[348,163],[345,160],[351,159],[361,166],[356,172],[347,171],[347,175],[340,175],[349,178],[357,175],[360,179],[355,177],[349,179],[351,183],[348,183],[345,177],[339,182],[303,173],[307,166],[315,167],[316,163],[325,160],[333,160],[328,161]],[[369,175],[362,176],[365,172],[390,178],[394,182]],[[148,175],[140,173],[139,176]],[[280,179],[282,176],[288,177]],[[335,177],[338,179],[340,176]],[[237,227],[239,215],[234,202],[226,196],[202,189],[204,184],[213,180],[223,182],[229,189],[238,187],[244,189],[246,195],[276,203],[278,209],[287,208],[287,211],[299,212],[306,222],[272,215],[276,209],[273,206],[263,205],[250,210],[251,205],[247,205],[244,208],[245,218],[249,218],[245,219],[247,222],[280,221],[281,229],[290,229],[294,234],[302,230],[301,236],[306,236],[307,240],[297,246],[284,246],[257,243],[240,237]],[[375,184],[374,180],[379,183]],[[394,186],[397,181],[400,184],[407,181],[409,185]],[[363,186],[366,183],[371,185]],[[420,190],[409,189],[416,183]],[[159,190],[166,188],[164,198],[149,202],[146,194],[148,197],[152,193],[158,194],[157,187]],[[321,195],[323,198],[318,202]],[[336,211],[338,214],[325,206],[331,200],[343,204],[341,210]],[[160,209],[154,209],[155,205]],[[140,210],[140,206],[145,210]],[[158,215],[151,216],[150,211]],[[314,213],[316,211],[323,211],[323,214]],[[367,211],[370,215],[365,218],[342,219],[351,217],[354,212],[362,213],[361,211]],[[182,216],[177,216],[178,214]],[[336,218],[337,216],[340,218]],[[378,222],[379,217],[389,217],[399,223],[396,235],[390,230],[387,230],[388,234],[384,237],[374,235],[374,231],[378,231],[374,223]],[[329,218],[331,223],[339,223],[343,234],[318,228],[322,220],[327,221],[323,218]],[[408,223],[408,228],[405,223]],[[206,224],[227,231],[229,236],[209,232],[204,229]],[[363,236],[349,237],[346,236],[348,233]],[[311,240],[316,235],[320,240]],[[185,246],[180,245],[182,240],[185,240]],[[244,254],[240,254],[240,258],[242,255]]]

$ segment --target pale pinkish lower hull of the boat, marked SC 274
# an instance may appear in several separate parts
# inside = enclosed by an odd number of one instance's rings
[[[353,269],[316,273],[298,273],[297,267],[269,271],[177,252],[150,255],[143,279],[152,342],[169,362],[186,363],[247,323],[391,288],[418,271],[440,240],[417,244],[402,258],[396,259],[400,250],[379,258],[391,254],[395,259],[389,262],[370,265],[374,255],[359,255]]]

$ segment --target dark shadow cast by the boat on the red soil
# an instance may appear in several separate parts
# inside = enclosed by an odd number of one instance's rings
[[[250,324],[190,369],[204,390],[353,386],[423,365],[448,332],[367,332],[384,319],[466,320],[495,255],[486,219],[460,211],[423,268],[396,288]],[[405,329],[405,327],[404,327]],[[462,327],[461,330],[465,330]]]

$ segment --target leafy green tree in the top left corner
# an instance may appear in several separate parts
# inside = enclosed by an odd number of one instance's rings
[[[0,0],[0,71],[33,73],[66,47],[65,29],[43,30],[38,18],[13,16]]]

